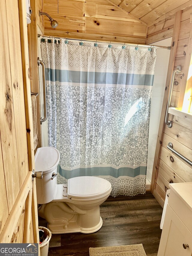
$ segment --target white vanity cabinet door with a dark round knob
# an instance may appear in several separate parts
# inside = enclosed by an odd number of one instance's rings
[[[183,245],[189,247],[184,249]],[[191,254],[192,234],[172,208],[167,205],[158,256],[191,256]]]

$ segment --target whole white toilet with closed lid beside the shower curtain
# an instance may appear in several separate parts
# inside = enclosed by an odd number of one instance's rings
[[[38,148],[35,154],[37,202],[43,204],[39,215],[48,222],[53,234],[93,233],[103,224],[100,204],[111,193],[111,183],[94,176],[68,179],[68,184],[57,184],[57,165],[60,155],[52,147]]]

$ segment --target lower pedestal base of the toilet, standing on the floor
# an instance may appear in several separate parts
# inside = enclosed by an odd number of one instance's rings
[[[83,205],[77,205],[71,203],[72,200],[68,201],[52,201],[44,206],[44,218],[53,234],[94,233],[102,227],[103,221],[97,203],[91,201],[91,204],[84,202]]]

